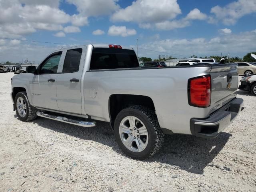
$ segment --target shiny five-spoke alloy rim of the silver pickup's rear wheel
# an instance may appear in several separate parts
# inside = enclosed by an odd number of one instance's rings
[[[123,118],[119,126],[119,135],[124,146],[132,152],[142,152],[148,145],[148,131],[137,117]]]

